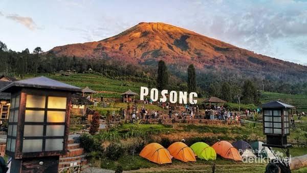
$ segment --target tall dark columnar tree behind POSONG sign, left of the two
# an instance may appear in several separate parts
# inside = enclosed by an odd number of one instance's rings
[[[158,90],[160,91],[166,89],[168,85],[168,71],[163,60],[160,60],[158,63],[157,85]]]

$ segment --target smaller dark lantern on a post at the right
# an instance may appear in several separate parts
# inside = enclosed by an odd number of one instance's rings
[[[263,121],[263,131],[267,136],[267,143],[262,144],[262,146],[276,147],[287,149],[287,157],[290,157],[289,148],[292,147],[291,144],[287,142],[287,136],[290,135],[290,119],[289,110],[295,109],[294,106],[282,103],[280,101],[272,101],[262,105],[262,121]],[[287,161],[278,160],[278,166],[280,169],[289,172],[290,166]]]

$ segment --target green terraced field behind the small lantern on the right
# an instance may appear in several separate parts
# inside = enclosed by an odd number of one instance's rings
[[[278,99],[280,99],[282,102],[296,106],[299,112],[307,112],[307,95],[291,95],[271,92],[261,93],[261,103],[266,103]]]

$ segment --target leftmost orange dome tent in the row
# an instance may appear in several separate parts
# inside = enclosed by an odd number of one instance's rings
[[[172,156],[168,150],[158,143],[150,143],[146,145],[140,156],[158,164],[171,163]]]

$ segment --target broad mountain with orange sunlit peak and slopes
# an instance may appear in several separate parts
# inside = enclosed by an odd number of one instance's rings
[[[256,54],[164,23],[139,23],[113,37],[58,46],[50,52],[59,57],[102,58],[149,66],[157,66],[157,61],[163,59],[170,69],[177,71],[186,71],[193,63],[199,74],[227,72],[228,76],[239,78],[307,81],[306,66]]]

